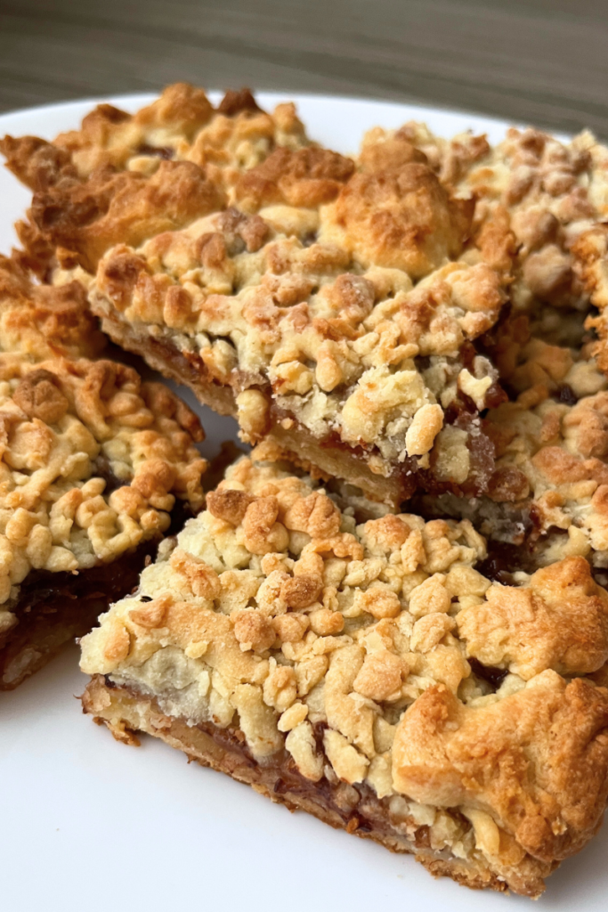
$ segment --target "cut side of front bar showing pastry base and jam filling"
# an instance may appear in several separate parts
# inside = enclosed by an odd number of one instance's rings
[[[532,882],[513,876],[507,883],[490,871],[477,853],[467,861],[445,849],[434,851],[428,826],[408,826],[406,833],[404,824],[393,825],[387,799],[378,799],[366,785],[332,784],[325,777],[320,782],[311,782],[298,772],[286,752],[264,764],[255,762],[238,729],[220,729],[212,723],[188,725],[185,720],[165,715],[152,696],[115,685],[103,675],[91,679],[82,704],[83,710],[98,724],[108,726],[117,741],[139,745],[136,732],[153,735],[183,751],[189,761],[225,772],[271,801],[284,804],[290,811],[306,811],[336,829],[373,839],[391,852],[415,855],[434,876],[449,876],[475,889],[489,887],[501,892],[512,889],[532,897],[542,892],[544,885],[540,878]]]

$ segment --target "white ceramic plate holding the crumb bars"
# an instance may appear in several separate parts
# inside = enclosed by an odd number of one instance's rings
[[[272,107],[283,96],[260,93]],[[290,96],[294,98],[294,96]],[[110,99],[135,110],[151,96]],[[469,114],[354,98],[295,96],[312,137],[356,150],[364,130],[426,120],[449,136],[471,128],[500,140],[506,124]],[[51,139],[77,127],[94,102],[0,117],[0,135]],[[0,251],[29,194],[0,172]],[[191,399],[190,399],[191,401]],[[231,419],[199,408],[210,451],[234,436]],[[227,776],[188,766],[154,739],[139,750],[85,718],[77,648],[11,693],[0,694],[0,908],[3,912],[288,912],[380,907],[507,912],[529,900],[434,881],[411,856],[391,855],[278,805]],[[551,912],[608,908],[608,831],[549,880]],[[538,908],[537,907],[537,908]]]

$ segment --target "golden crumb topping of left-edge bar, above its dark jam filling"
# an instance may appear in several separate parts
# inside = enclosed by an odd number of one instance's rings
[[[198,419],[111,361],[0,355],[0,604],[30,570],[115,560],[201,507]],[[14,617],[11,615],[11,617]]]

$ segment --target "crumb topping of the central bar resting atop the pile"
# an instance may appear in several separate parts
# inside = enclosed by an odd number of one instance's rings
[[[263,437],[274,408],[315,438],[367,448],[370,465],[377,451],[424,457],[451,401],[485,407],[496,374],[483,357],[465,365],[460,349],[496,320],[504,276],[467,257],[417,285],[395,268],[364,270],[342,246],[307,244],[312,215],[229,209],[139,251],[120,245],[98,266],[92,306],[198,358],[232,388],[247,440]]]

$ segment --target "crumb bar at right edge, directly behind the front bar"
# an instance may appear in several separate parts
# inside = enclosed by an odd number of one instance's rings
[[[441,496],[423,510],[468,516],[495,542],[489,575],[586,558],[605,581],[608,567],[608,381],[583,352],[532,339],[510,373],[514,401],[489,409],[493,447],[485,496]],[[578,358],[576,357],[578,355]]]

